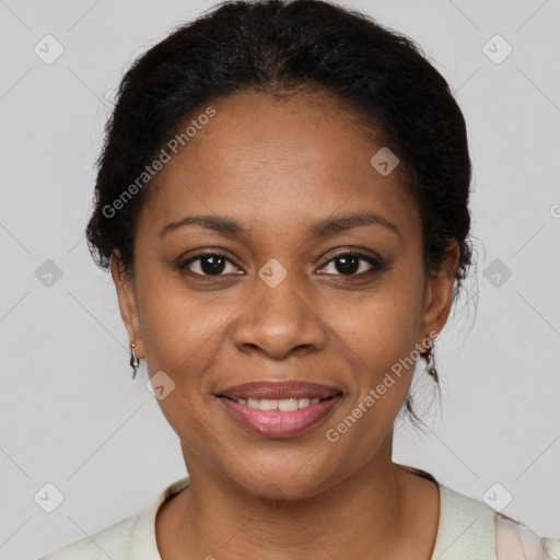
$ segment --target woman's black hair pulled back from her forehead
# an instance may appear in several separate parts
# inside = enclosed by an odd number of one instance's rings
[[[240,92],[328,92],[360,116],[364,129],[377,130],[399,158],[404,188],[418,203],[424,270],[441,268],[448,240],[458,244],[455,302],[472,257],[463,114],[415,42],[322,0],[223,2],[175,27],[133,61],[96,162],[86,240],[100,267],[107,269],[118,249],[125,270],[133,270],[137,219],[153,187],[135,189],[110,217],[106,209],[122,200],[182,124],[211,101]],[[439,388],[438,375],[431,375]],[[411,404],[408,396],[407,412],[417,425],[421,420]]]

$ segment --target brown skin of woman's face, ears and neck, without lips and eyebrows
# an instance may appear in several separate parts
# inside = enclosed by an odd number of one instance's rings
[[[180,440],[190,487],[159,510],[162,559],[428,560],[438,487],[392,460],[413,368],[339,441],[325,433],[441,331],[458,247],[450,242],[442,269],[425,276],[404,168],[382,176],[372,167],[381,137],[374,141],[337,98],[238,93],[212,106],[217,115],[151,187],[133,270],[124,270],[117,250],[110,265],[137,354],[150,375],[163,371],[175,383],[159,404]],[[363,210],[399,233],[362,225],[308,237],[316,222]],[[187,225],[159,235],[192,214],[233,218],[249,233]],[[368,273],[372,266],[359,260],[345,275],[332,259],[352,248],[380,255],[387,269]],[[177,270],[199,249],[232,262],[219,278],[209,278],[203,259]],[[271,258],[288,272],[276,288],[258,276]],[[342,398],[305,433],[273,439],[243,428],[214,396],[287,378],[338,387]]]

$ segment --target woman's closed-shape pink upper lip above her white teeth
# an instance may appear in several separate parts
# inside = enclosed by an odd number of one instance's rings
[[[340,394],[341,392],[336,387],[305,381],[254,381],[228,387],[218,396],[237,400],[240,398],[329,398]]]

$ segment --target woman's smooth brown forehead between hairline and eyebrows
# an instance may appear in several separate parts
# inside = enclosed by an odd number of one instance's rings
[[[209,105],[214,116],[198,121],[202,107],[179,127],[190,126],[189,136],[176,153],[166,148],[170,159],[152,179],[142,217],[154,228],[203,213],[272,233],[370,210],[418,233],[402,166],[386,176],[372,166],[382,136],[336,97],[238,93]]]

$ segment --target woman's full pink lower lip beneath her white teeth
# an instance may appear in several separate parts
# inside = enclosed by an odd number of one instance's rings
[[[340,396],[337,395],[291,412],[257,410],[247,405],[240,405],[228,397],[219,398],[235,420],[258,435],[290,438],[304,432],[313,424],[323,420],[338,402]]]

